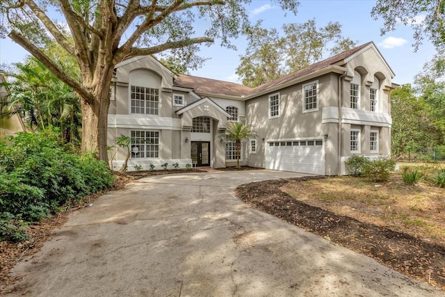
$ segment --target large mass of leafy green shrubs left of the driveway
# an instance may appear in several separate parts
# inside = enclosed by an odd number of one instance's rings
[[[22,132],[9,141],[9,147],[0,145],[1,213],[37,221],[113,183],[106,163],[66,152],[54,131]]]

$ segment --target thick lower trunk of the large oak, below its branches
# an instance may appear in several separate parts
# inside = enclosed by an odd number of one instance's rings
[[[108,163],[106,150],[109,86],[102,84],[96,99],[88,103],[81,100],[82,108],[82,152],[95,152],[97,159]]]

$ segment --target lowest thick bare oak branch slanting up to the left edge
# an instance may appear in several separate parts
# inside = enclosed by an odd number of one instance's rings
[[[82,86],[79,81],[76,81],[75,79],[72,79],[72,77],[65,74],[65,72],[60,67],[58,67],[58,65],[54,63],[54,61],[52,61],[47,55],[45,55],[38,47],[29,42],[29,40],[26,40],[26,38],[24,38],[22,34],[20,34],[18,31],[13,30],[8,34],[8,36],[24,49],[29,51],[29,53],[35,56],[35,58],[37,58],[40,62],[42,62],[49,71],[51,71],[58,79],[60,79],[60,81],[63,81],[68,86],[73,88],[74,91],[76,91],[76,93],[78,93],[87,103],[91,103],[94,101],[95,97],[92,95],[90,90]]]

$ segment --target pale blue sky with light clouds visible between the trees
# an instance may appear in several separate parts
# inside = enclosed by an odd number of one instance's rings
[[[428,40],[414,53],[412,29],[400,24],[396,31],[380,36],[382,19],[371,18],[371,9],[375,1],[370,0],[300,0],[298,14],[286,13],[273,2],[253,0],[248,11],[252,22],[264,19],[263,26],[280,29],[282,24],[303,23],[316,19],[317,26],[327,22],[340,22],[343,35],[358,41],[358,45],[373,41],[396,73],[395,83],[412,83],[414,76],[422,71],[423,64],[435,54],[435,49]],[[421,18],[421,16],[419,16]],[[201,47],[201,55],[210,58],[200,70],[191,72],[198,77],[209,77],[224,81],[237,81],[235,74],[239,55],[244,54],[244,38],[234,40],[237,51],[221,48],[216,42],[211,47]],[[0,40],[0,63],[10,64],[24,61],[28,53],[9,39]]]

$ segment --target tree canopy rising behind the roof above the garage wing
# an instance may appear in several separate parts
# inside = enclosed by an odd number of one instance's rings
[[[320,28],[315,19],[303,24],[284,24],[282,36],[277,29],[265,29],[261,24],[260,20],[245,31],[248,47],[236,68],[245,86],[256,87],[296,72],[327,54],[339,54],[357,43],[343,37],[339,22],[329,22]]]

